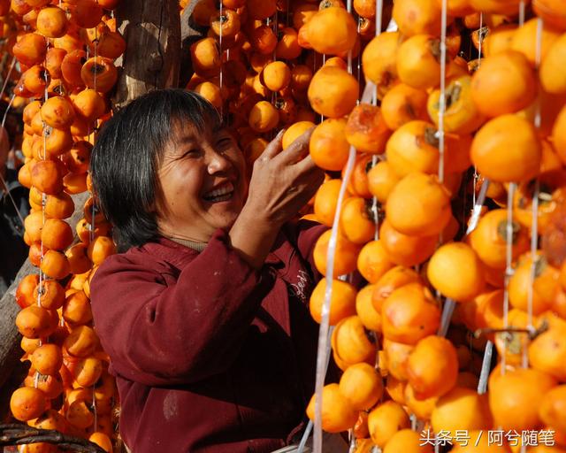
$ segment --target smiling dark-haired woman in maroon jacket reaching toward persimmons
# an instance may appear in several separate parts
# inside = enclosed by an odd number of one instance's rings
[[[249,182],[194,93],[142,96],[99,134],[93,185],[121,253],[96,271],[91,302],[135,453],[267,453],[301,434],[316,365],[312,250],[325,229],[292,221],[324,177],[310,132],[285,150],[279,134]]]

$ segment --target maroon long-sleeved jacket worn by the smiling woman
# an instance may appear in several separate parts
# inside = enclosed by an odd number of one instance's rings
[[[318,331],[311,255],[325,230],[314,225],[285,226],[260,271],[220,230],[200,253],[160,239],[100,266],[92,309],[134,453],[263,453],[302,426]]]

